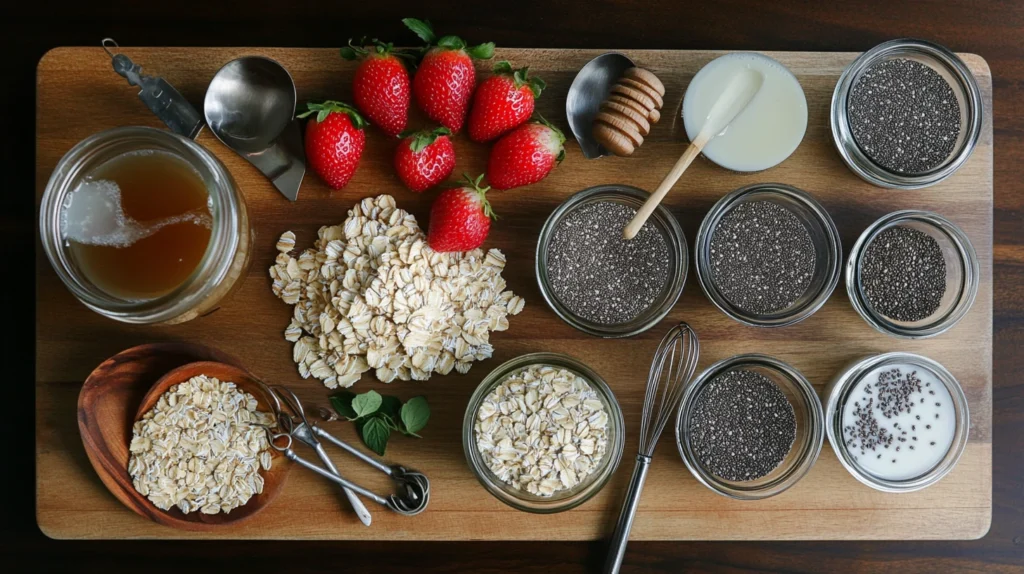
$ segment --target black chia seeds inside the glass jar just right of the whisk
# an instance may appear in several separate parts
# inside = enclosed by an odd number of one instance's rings
[[[709,472],[750,481],[785,459],[797,438],[797,417],[771,379],[737,369],[716,377],[700,392],[689,433],[697,459]]]

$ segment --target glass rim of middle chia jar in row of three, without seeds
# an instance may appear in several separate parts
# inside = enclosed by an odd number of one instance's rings
[[[821,283],[821,289],[812,299],[810,299],[804,306],[793,309],[790,313],[784,315],[772,317],[770,320],[759,319],[750,314],[742,313],[740,310],[736,309],[734,305],[728,303],[725,297],[719,293],[718,286],[715,284],[711,268],[709,267],[709,258],[707,256],[707,251],[711,249],[710,246],[712,237],[714,236],[715,230],[718,228],[718,224],[721,222],[722,218],[725,217],[733,208],[739,205],[739,202],[743,197],[752,193],[759,192],[775,193],[796,201],[806,207],[807,210],[818,220],[821,228],[824,229],[824,241],[827,246],[829,256],[833,259],[833,264],[826,271],[828,273],[827,277],[825,277],[825,280]],[[808,233],[810,232],[811,230],[808,229]],[[843,245],[840,239],[839,229],[836,227],[836,223],[833,221],[831,216],[829,216],[828,212],[825,211],[824,206],[819,204],[818,201],[815,200],[809,192],[784,183],[755,183],[753,185],[748,185],[731,191],[716,202],[700,222],[700,227],[697,229],[696,240],[693,241],[693,259],[696,262],[697,282],[700,283],[700,289],[703,291],[705,296],[712,302],[713,305],[715,305],[715,307],[727,316],[749,326],[788,326],[810,317],[828,301],[828,298],[836,290],[836,285],[839,284],[843,267]]]

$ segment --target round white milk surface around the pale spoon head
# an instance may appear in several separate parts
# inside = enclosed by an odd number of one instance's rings
[[[756,172],[790,157],[807,129],[807,100],[800,82],[784,65],[752,52],[726,54],[697,72],[683,98],[683,124],[692,141],[715,100],[736,72],[754,69],[764,84],[745,109],[703,148],[703,154],[737,172]]]

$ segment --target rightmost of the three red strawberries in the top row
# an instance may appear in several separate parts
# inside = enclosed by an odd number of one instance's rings
[[[476,88],[469,113],[469,139],[489,141],[522,124],[534,115],[534,99],[545,88],[544,80],[529,78],[527,69],[512,70],[500,61],[495,75]]]

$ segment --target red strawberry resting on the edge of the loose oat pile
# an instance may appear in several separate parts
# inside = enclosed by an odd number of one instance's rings
[[[489,187],[480,187],[480,180],[466,176],[468,185],[445,189],[434,200],[430,208],[430,228],[427,231],[427,244],[434,251],[469,251],[474,250],[487,238],[490,230],[490,211],[485,193]]]

